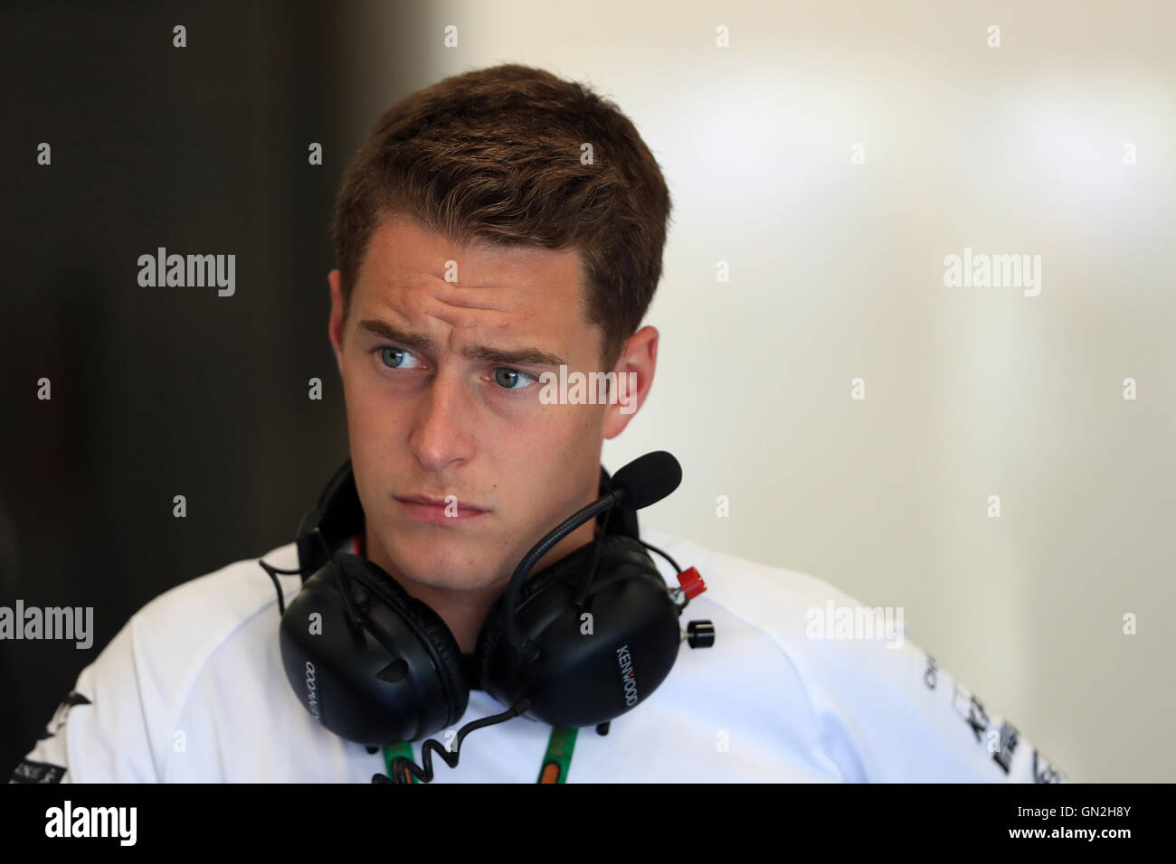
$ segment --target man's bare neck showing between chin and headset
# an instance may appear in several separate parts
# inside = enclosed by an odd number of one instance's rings
[[[597,529],[599,522],[596,520],[590,520],[577,528],[548,549],[547,554],[535,562],[530,575],[570,555],[580,547],[590,543],[599,535]],[[449,628],[449,632],[457,641],[457,647],[462,654],[474,654],[477,645],[477,634],[482,629],[482,622],[486,621],[487,612],[490,611],[494,601],[505,594],[510,584],[510,574],[514,571],[513,565],[510,572],[503,574],[496,582],[485,588],[468,591],[437,588],[417,582],[399,572],[386,550],[379,543],[373,543],[373,537],[367,525],[363,528],[362,543],[362,555],[379,565],[385,572],[392,575],[410,596],[416,597],[440,615],[446,627]]]

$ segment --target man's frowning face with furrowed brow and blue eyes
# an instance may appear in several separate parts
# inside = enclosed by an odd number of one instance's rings
[[[368,556],[436,588],[509,576],[595,498],[601,440],[629,418],[616,404],[540,400],[540,374],[560,362],[600,370],[579,254],[461,247],[395,216],[373,232],[346,322],[338,270],[329,281],[355,484],[379,547]],[[652,344],[642,333],[652,363],[656,330]],[[447,503],[401,501],[417,496]]]

